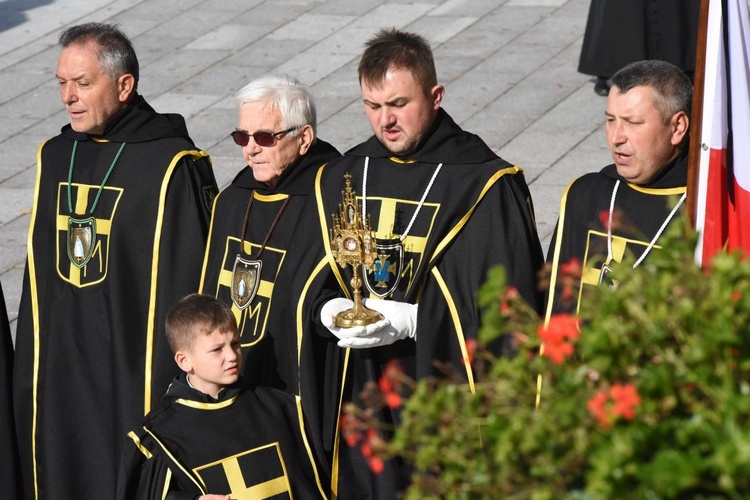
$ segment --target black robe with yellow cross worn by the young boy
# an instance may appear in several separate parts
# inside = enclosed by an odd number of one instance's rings
[[[327,498],[301,412],[299,398],[243,379],[217,400],[183,373],[128,433],[116,498]]]

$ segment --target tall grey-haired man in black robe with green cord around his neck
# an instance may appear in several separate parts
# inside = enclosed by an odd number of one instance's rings
[[[70,123],[39,148],[14,405],[27,498],[112,498],[122,437],[177,373],[164,317],[198,288],[216,183],[185,120],[138,95],[116,26],[66,30]]]

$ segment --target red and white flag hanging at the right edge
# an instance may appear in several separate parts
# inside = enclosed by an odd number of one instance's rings
[[[747,0],[709,0],[696,262],[750,256],[750,18]]]

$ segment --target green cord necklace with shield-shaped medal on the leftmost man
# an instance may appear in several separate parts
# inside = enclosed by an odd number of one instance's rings
[[[94,242],[96,241],[96,219],[93,217],[96,205],[99,203],[99,197],[102,195],[104,186],[107,184],[112,170],[117,164],[117,160],[120,159],[122,150],[125,149],[125,142],[122,143],[120,149],[117,151],[112,164],[109,166],[107,173],[104,175],[104,180],[99,186],[99,190],[94,198],[94,203],[91,204],[91,210],[89,210],[90,217],[79,219],[73,217],[73,165],[75,165],[76,149],[78,149],[78,141],[73,143],[73,152],[70,154],[70,170],[68,170],[68,212],[71,214],[68,217],[68,258],[74,266],[81,268],[85,266],[91,254],[94,250]]]

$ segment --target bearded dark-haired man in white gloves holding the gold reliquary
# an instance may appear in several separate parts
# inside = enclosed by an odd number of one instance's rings
[[[366,306],[384,320],[340,328],[333,318],[352,301],[321,295],[317,303],[325,302],[320,321],[338,345],[354,348],[347,353],[344,402],[356,400],[393,363],[417,378],[447,369],[473,386],[469,351],[481,322],[476,294],[488,270],[505,266],[508,283],[539,306],[543,256],[522,170],[440,107],[445,89],[421,36],[381,30],[367,42],[359,77],[374,136],[322,168],[316,187],[324,271],[337,277],[339,295],[350,293],[351,267],[334,262],[329,228],[347,174],[376,236],[378,262],[363,268],[362,278]],[[503,346],[493,347],[500,353]],[[386,425],[398,419],[390,408],[380,418]],[[339,441],[333,481],[339,497],[394,498],[408,479],[398,462],[373,474],[358,447]]]

